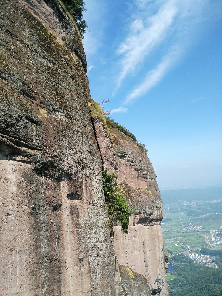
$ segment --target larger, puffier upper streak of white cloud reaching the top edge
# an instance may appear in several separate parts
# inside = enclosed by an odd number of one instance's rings
[[[167,1],[155,15],[133,21],[128,37],[117,49],[118,55],[123,54],[120,60],[123,69],[118,77],[117,88],[126,75],[132,73],[152,49],[167,37],[167,31],[178,12],[176,2]]]

